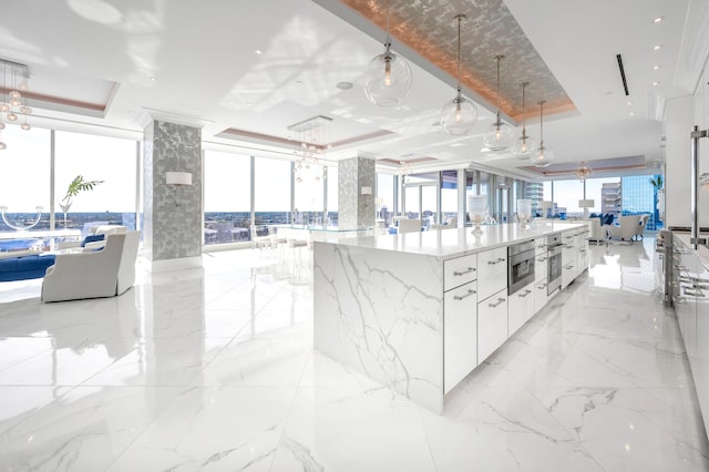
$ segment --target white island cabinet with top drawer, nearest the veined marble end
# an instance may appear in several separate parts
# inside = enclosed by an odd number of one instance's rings
[[[443,393],[477,366],[477,257],[443,261]]]

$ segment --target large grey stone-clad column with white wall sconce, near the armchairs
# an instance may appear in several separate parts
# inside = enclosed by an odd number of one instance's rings
[[[153,120],[143,140],[143,256],[154,271],[201,267],[202,130]],[[192,185],[168,185],[167,172],[192,174]]]

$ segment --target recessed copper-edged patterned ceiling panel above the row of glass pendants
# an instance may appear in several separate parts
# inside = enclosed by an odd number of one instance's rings
[[[576,110],[502,0],[340,0],[395,42],[404,43],[453,79],[458,75],[456,14],[467,18],[461,25],[461,83],[494,107],[496,104],[496,55],[501,62],[500,107],[515,121],[522,120],[522,82],[526,89],[527,116]]]

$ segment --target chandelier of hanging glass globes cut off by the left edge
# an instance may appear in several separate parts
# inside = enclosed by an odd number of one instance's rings
[[[20,123],[20,127],[25,131],[32,127],[27,122],[27,115],[32,110],[27,105],[24,94],[29,79],[30,70],[27,65],[0,59],[0,150],[8,147],[2,141],[6,121],[11,124]],[[19,115],[22,115],[22,120]]]

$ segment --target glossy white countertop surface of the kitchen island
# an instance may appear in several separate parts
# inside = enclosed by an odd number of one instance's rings
[[[483,233],[480,236],[473,234],[473,228],[466,227],[404,233],[400,235],[360,236],[358,238],[345,238],[337,242],[321,243],[445,258],[508,246],[510,244],[534,239],[551,233],[584,226],[587,226],[586,222],[559,223],[540,220],[531,223],[527,228],[518,223],[483,225],[481,228]]]

